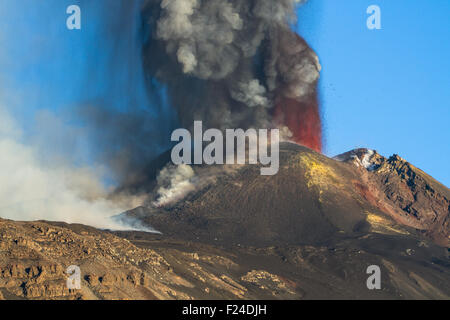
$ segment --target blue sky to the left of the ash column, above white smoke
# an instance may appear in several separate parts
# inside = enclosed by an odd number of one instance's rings
[[[1,1],[0,80],[3,91],[26,95],[26,106],[15,106],[21,113],[83,101],[102,100],[114,107],[147,103],[138,29],[126,23],[138,7],[127,12],[121,3]],[[81,31],[66,28],[71,4],[83,8]]]

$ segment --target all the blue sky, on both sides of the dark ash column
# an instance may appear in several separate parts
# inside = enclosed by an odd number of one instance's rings
[[[82,32],[65,27],[74,3],[83,5]],[[24,126],[43,108],[151,104],[139,67],[142,35],[125,23],[132,13],[120,3],[2,0],[0,103]],[[382,30],[366,28],[372,4],[381,7]],[[310,0],[299,9],[297,28],[323,66],[326,154],[398,153],[450,185],[449,13],[448,0]]]

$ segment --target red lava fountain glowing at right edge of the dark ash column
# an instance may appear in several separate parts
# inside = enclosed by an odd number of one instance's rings
[[[312,101],[311,101],[312,100]],[[317,152],[322,151],[322,121],[318,104],[283,97],[275,107],[275,119],[292,132],[292,140]]]

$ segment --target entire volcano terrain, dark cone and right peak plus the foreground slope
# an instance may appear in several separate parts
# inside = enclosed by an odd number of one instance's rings
[[[450,298],[447,187],[369,149],[282,143],[279,173],[259,169],[192,166],[184,198],[116,217],[158,234],[0,219],[0,299]]]

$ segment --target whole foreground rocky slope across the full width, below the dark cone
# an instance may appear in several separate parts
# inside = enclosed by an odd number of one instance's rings
[[[129,240],[127,240],[128,238]],[[251,247],[0,220],[1,299],[449,299],[448,253],[373,233],[328,245]],[[382,290],[368,290],[379,265]],[[81,269],[81,289],[66,268]]]

